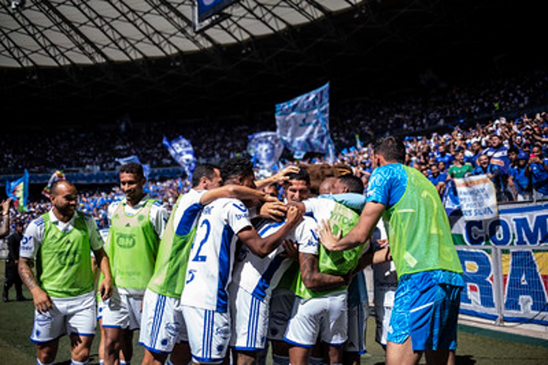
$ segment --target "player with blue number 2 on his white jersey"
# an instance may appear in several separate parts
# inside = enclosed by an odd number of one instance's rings
[[[224,185],[255,188],[253,164],[247,159],[227,161],[221,169]],[[248,202],[252,204],[252,202]],[[276,249],[283,237],[300,221],[296,208],[289,208],[286,223],[262,239],[249,221],[246,205],[237,199],[217,199],[203,208],[193,240],[181,311],[195,363],[224,361],[231,335],[229,293],[236,240],[259,257]]]

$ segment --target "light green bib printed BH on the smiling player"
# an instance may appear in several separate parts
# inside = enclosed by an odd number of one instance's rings
[[[154,271],[159,239],[150,223],[154,200],[146,201],[134,216],[118,204],[109,229],[109,258],[114,285],[145,289]]]

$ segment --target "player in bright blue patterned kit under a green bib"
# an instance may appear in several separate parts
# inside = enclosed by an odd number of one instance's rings
[[[358,224],[337,240],[322,224],[321,243],[330,251],[361,245],[381,215],[399,283],[392,310],[386,364],[454,363],[456,323],[463,270],[437,190],[415,169],[403,165],[405,147],[394,137],[374,144],[367,204]]]

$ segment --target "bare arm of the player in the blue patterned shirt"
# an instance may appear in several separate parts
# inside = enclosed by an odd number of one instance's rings
[[[319,230],[319,241],[329,251],[345,251],[359,246],[370,239],[384,210],[384,204],[372,201],[368,202],[363,208],[362,215],[359,216],[356,227],[352,228],[352,230],[341,239],[333,235],[329,224],[324,221],[321,223],[321,228]]]

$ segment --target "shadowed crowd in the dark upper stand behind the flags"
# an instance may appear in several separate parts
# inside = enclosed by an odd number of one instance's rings
[[[425,94],[367,98],[332,105],[330,129],[339,149],[350,146],[358,133],[369,141],[390,131],[421,131],[448,126],[459,120],[477,120],[484,115],[528,108],[546,101],[548,74],[534,71],[516,77],[476,81]],[[273,114],[273,113],[272,113]],[[115,158],[137,155],[151,167],[174,165],[162,138],[183,135],[193,144],[199,159],[227,159],[245,153],[247,136],[275,130],[273,115],[256,115],[249,120],[187,121],[133,125],[124,119],[114,130],[104,126],[86,131],[67,130],[39,134],[14,134],[0,140],[0,173],[67,170],[99,166],[113,170]],[[211,131],[215,131],[212,133]],[[55,146],[55,148],[52,148]],[[71,151],[71,153],[64,153]]]

